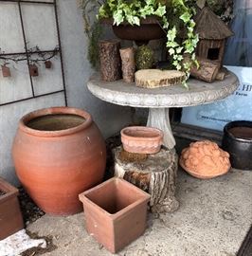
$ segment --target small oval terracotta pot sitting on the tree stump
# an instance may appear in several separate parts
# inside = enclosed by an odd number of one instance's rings
[[[123,149],[130,153],[155,154],[163,143],[163,132],[157,128],[130,126],[120,131]]]

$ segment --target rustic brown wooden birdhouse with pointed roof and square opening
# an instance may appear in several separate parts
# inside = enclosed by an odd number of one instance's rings
[[[232,36],[233,32],[208,7],[201,9],[194,20],[195,32],[199,34],[196,55],[222,65],[225,39]]]

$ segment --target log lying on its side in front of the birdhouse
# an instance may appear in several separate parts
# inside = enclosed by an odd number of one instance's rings
[[[206,82],[213,82],[219,72],[220,64],[197,58],[200,67],[193,64],[190,68],[190,75],[196,79],[203,80]]]

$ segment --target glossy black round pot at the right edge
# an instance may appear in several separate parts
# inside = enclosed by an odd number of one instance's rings
[[[252,121],[231,121],[225,125],[223,149],[230,154],[231,166],[252,170]]]

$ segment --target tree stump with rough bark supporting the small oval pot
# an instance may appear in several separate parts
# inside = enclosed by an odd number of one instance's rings
[[[175,150],[162,148],[157,154],[146,157],[137,157],[136,154],[135,158],[124,157],[124,153],[122,146],[114,149],[115,176],[149,192],[152,212],[177,210],[179,203],[175,198],[175,188],[178,157]]]

